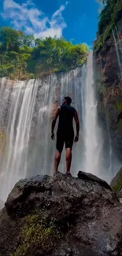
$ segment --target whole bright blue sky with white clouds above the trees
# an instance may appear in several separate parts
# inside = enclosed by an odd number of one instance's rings
[[[98,28],[99,0],[0,0],[0,26],[35,37],[64,36],[92,45]]]

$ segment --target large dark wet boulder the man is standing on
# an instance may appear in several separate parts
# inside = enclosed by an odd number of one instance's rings
[[[0,256],[120,256],[122,207],[91,174],[35,176],[9,194],[0,231]]]

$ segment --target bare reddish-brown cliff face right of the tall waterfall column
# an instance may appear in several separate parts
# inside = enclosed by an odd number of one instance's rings
[[[116,29],[117,28],[117,29]],[[105,143],[108,133],[114,154],[122,160],[122,19],[114,32],[94,53],[94,78],[98,91],[98,115]]]

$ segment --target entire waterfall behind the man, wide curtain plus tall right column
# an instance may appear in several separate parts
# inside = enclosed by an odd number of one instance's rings
[[[72,175],[76,176],[81,169],[102,176],[102,138],[93,83],[92,53],[87,65],[67,73],[16,85],[6,79],[0,81],[0,130],[6,137],[1,158],[0,198],[6,200],[14,184],[26,176],[53,174],[55,143],[50,139],[51,121],[65,95],[71,96],[80,121],[79,143],[73,148]],[[65,172],[65,155],[59,170]]]

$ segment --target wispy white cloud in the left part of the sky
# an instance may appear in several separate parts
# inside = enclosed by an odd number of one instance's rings
[[[9,19],[13,28],[23,30],[35,37],[45,38],[46,36],[62,36],[67,24],[62,16],[65,6],[61,6],[49,19],[45,13],[35,7],[35,4],[28,0],[23,4],[18,4],[14,0],[3,0],[2,18]]]

